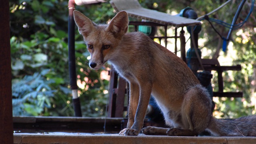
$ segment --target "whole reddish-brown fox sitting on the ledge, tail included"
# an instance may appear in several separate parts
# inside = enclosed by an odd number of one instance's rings
[[[120,11],[108,24],[96,24],[74,10],[74,21],[90,52],[89,66],[100,69],[110,62],[129,83],[127,127],[123,136],[256,136],[256,115],[233,120],[212,116],[211,98],[187,64],[141,32],[127,32],[129,16]],[[142,129],[152,95],[169,128]]]

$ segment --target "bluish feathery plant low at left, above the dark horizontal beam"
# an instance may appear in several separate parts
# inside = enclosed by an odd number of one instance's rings
[[[52,80],[46,80],[42,74],[35,72],[32,76],[25,76],[22,80],[14,79],[12,82],[13,115],[38,116],[47,112],[51,107],[51,99],[56,90],[52,90],[49,84]]]

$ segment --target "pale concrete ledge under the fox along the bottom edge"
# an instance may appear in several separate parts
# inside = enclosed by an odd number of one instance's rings
[[[15,133],[14,144],[256,144],[256,137]]]

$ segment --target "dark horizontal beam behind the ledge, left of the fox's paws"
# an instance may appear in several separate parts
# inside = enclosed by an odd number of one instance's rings
[[[14,116],[14,131],[37,132],[104,132],[117,133],[126,126],[124,118],[25,117]],[[12,131],[13,132],[13,131]],[[1,143],[9,144],[9,143]]]

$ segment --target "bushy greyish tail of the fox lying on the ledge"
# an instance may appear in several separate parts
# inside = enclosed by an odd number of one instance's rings
[[[212,117],[206,130],[214,136],[256,136],[256,115],[233,120]]]

